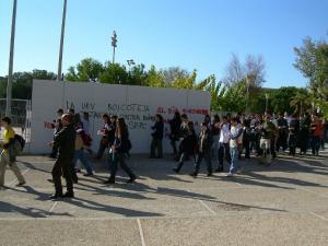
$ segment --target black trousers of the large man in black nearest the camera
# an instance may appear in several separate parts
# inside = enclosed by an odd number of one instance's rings
[[[66,179],[67,191],[73,192],[73,162],[71,159],[57,159],[52,167],[52,179],[55,184],[56,195],[62,195],[61,175]]]

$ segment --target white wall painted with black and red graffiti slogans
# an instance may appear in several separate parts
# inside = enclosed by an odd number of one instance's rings
[[[90,131],[93,150],[97,150],[99,137],[96,136],[103,122],[104,113],[124,116],[130,132],[132,153],[148,153],[151,141],[150,119],[159,110],[164,119],[173,117],[175,108],[186,112],[190,120],[199,125],[210,109],[208,92],[155,89],[130,85],[109,85],[97,83],[67,83],[56,81],[33,82],[31,152],[48,153],[47,142],[52,139],[49,124],[56,118],[58,108],[67,110],[74,107],[77,113],[90,113]],[[165,124],[168,132],[169,126]],[[164,140],[164,152],[171,152],[168,139]]]

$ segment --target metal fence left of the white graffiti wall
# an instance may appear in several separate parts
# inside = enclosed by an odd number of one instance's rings
[[[0,117],[5,116],[5,98],[0,98]],[[25,141],[25,152],[30,152],[31,142],[31,116],[32,104],[30,99],[12,99],[11,102],[11,120],[15,132],[21,134]]]

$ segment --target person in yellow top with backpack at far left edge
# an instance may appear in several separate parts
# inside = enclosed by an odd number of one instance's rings
[[[15,142],[15,132],[11,127],[11,119],[9,117],[3,117],[1,119],[1,126],[4,128],[2,133],[3,141],[0,143],[2,151],[0,154],[0,188],[4,187],[4,174],[7,165],[16,176],[19,184],[16,186],[24,186],[26,184],[25,178],[23,177],[17,164],[12,159],[15,153],[13,153],[14,142]]]

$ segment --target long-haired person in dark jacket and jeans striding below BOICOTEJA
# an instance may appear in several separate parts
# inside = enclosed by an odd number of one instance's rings
[[[118,163],[120,167],[129,175],[130,179],[128,183],[133,183],[137,179],[137,176],[127,166],[125,162],[125,155],[129,152],[130,140],[128,127],[124,118],[118,118],[116,124],[115,141],[112,145],[112,165],[110,165],[110,177],[105,184],[115,184],[115,177],[117,173]]]

